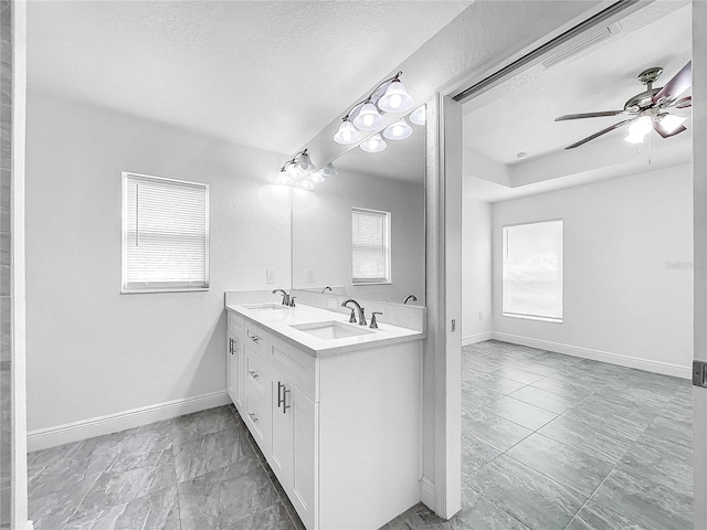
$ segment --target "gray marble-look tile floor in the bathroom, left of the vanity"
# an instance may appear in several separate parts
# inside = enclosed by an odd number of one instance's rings
[[[303,530],[235,409],[30,453],[35,530]]]

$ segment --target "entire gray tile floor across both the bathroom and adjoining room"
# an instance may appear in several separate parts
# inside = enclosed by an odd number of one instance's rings
[[[463,509],[386,530],[692,529],[688,381],[488,341],[463,349]],[[36,530],[300,530],[232,406],[32,453]]]

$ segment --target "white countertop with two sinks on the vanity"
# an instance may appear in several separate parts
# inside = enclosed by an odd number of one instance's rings
[[[426,336],[422,331],[381,322],[381,317],[378,317],[378,329],[370,329],[368,326],[362,327],[358,324],[349,324],[348,315],[329,311],[318,307],[306,306],[304,304],[297,304],[296,307],[283,306],[283,309],[249,309],[244,307],[249,305],[252,304],[228,304],[225,308],[241,315],[257,326],[273,331],[278,338],[293,343],[313,357],[325,357],[380,346],[394,344],[398,342],[420,340],[424,339]],[[366,318],[370,325],[370,315],[366,315]],[[320,339],[292,327],[293,325],[330,321],[351,326],[354,328],[363,328],[372,331],[372,333],[339,339]]]

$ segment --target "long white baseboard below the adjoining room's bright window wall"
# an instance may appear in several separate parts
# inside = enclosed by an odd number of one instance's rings
[[[641,359],[639,357],[623,356],[621,353],[613,353],[611,351],[592,350],[591,348],[562,344],[560,342],[534,339],[519,335],[502,333],[498,331],[494,331],[492,335],[493,339],[495,340],[502,340],[504,342],[510,342],[513,344],[528,346],[530,348],[538,348],[540,350],[555,351],[557,353],[564,353],[567,356],[591,359],[593,361],[609,362],[611,364],[619,364],[620,367],[646,370],[648,372],[662,373],[664,375],[672,375],[674,378],[693,378],[690,367],[680,367],[679,364],[672,364],[669,362],[652,361],[648,359]]]

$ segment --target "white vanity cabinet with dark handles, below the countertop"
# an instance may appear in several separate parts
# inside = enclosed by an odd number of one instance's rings
[[[374,530],[420,501],[421,340],[313,353],[247,318],[243,337],[234,403],[307,530]]]

